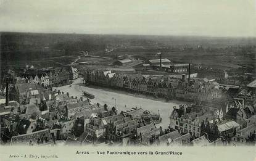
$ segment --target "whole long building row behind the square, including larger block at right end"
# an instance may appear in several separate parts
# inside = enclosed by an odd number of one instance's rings
[[[84,83],[151,94],[167,99],[204,101],[220,98],[223,94],[223,88],[215,81],[205,79],[187,81],[188,79],[185,76],[177,79],[169,75],[117,74],[111,70],[87,70],[84,73]]]

